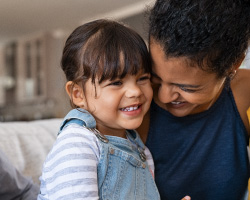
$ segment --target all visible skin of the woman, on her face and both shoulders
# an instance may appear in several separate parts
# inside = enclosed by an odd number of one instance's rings
[[[209,109],[219,97],[226,77],[217,78],[195,66],[189,66],[185,57],[166,58],[162,47],[151,40],[152,83],[154,101],[177,117],[192,115]],[[243,59],[242,59],[243,60]],[[243,123],[250,133],[247,109],[250,107],[250,70],[239,69],[240,60],[231,71],[236,74],[231,88]],[[229,72],[230,73],[230,72]],[[149,114],[138,129],[146,141],[149,128]]]

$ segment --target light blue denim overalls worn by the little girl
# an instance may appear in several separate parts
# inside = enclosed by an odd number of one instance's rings
[[[97,174],[101,200],[160,199],[145,159],[145,146],[134,130],[127,131],[127,140],[102,136],[95,129],[96,121],[93,116],[83,109],[71,110],[64,118],[60,132],[70,123],[88,128],[100,140],[102,149]]]

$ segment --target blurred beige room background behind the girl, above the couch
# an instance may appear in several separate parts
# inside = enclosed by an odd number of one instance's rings
[[[77,26],[98,18],[122,21],[147,40],[153,0],[1,0],[0,122],[63,117],[70,109],[60,68]]]

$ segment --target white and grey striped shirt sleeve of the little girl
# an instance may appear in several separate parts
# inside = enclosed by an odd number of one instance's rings
[[[99,199],[97,165],[100,148],[98,139],[89,130],[76,124],[67,126],[44,163],[38,197],[49,200]]]

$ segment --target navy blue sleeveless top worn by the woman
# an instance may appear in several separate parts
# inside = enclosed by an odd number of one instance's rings
[[[231,89],[211,108],[175,117],[152,102],[146,145],[162,200],[240,200],[249,178],[248,135]]]

